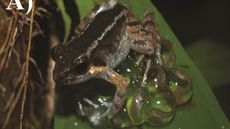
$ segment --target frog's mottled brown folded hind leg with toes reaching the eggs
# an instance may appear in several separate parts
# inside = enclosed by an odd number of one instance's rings
[[[142,23],[138,23],[136,18],[133,15],[130,15],[128,17],[126,32],[129,37],[134,40],[133,44],[131,44],[131,48],[144,54],[140,56],[141,58],[137,61],[137,64],[144,60],[146,54],[154,55],[155,63],[160,65],[163,64],[161,59],[161,39],[154,22],[154,14],[152,11],[146,11]],[[151,59],[148,59],[146,62],[142,86],[144,86],[144,82],[147,79],[152,63]]]

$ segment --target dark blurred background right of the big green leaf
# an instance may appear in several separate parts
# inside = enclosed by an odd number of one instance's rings
[[[230,0],[152,0],[152,2],[204,74],[230,120],[230,65],[228,65]],[[215,46],[212,49],[211,43]],[[198,56],[193,56],[197,53],[210,55],[213,58],[207,57],[208,61],[205,61],[207,60],[205,58],[204,61],[199,61],[196,59]],[[209,69],[204,69],[205,66]],[[213,78],[216,81],[213,81]]]

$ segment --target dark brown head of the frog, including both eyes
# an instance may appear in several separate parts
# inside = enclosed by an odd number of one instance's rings
[[[72,85],[89,78],[89,61],[86,56],[66,45],[53,47],[51,54],[55,61],[53,78],[57,84]]]

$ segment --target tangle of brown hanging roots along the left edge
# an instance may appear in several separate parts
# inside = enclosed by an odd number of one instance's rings
[[[52,104],[46,103],[51,79],[46,76],[48,68],[42,69],[41,64],[47,64],[49,42],[44,41],[38,23],[47,10],[41,7],[44,1],[33,2],[31,12],[25,15],[21,10],[5,10],[9,2],[0,1],[0,128],[48,128],[50,117],[45,109]],[[27,2],[22,5],[26,7]],[[35,40],[38,37],[44,42]],[[37,60],[34,52],[43,43],[47,49],[36,52],[42,57]]]

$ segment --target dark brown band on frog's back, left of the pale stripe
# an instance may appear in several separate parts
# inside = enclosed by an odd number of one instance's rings
[[[117,4],[113,9],[99,13],[84,33],[76,40],[71,41],[69,45],[77,50],[77,53],[87,52],[87,49],[92,46],[92,43],[95,43],[94,41],[102,36],[106,28],[114,22],[115,17],[124,10],[126,10],[124,6]],[[113,29],[111,31],[113,31]],[[98,43],[100,43],[100,41]]]

